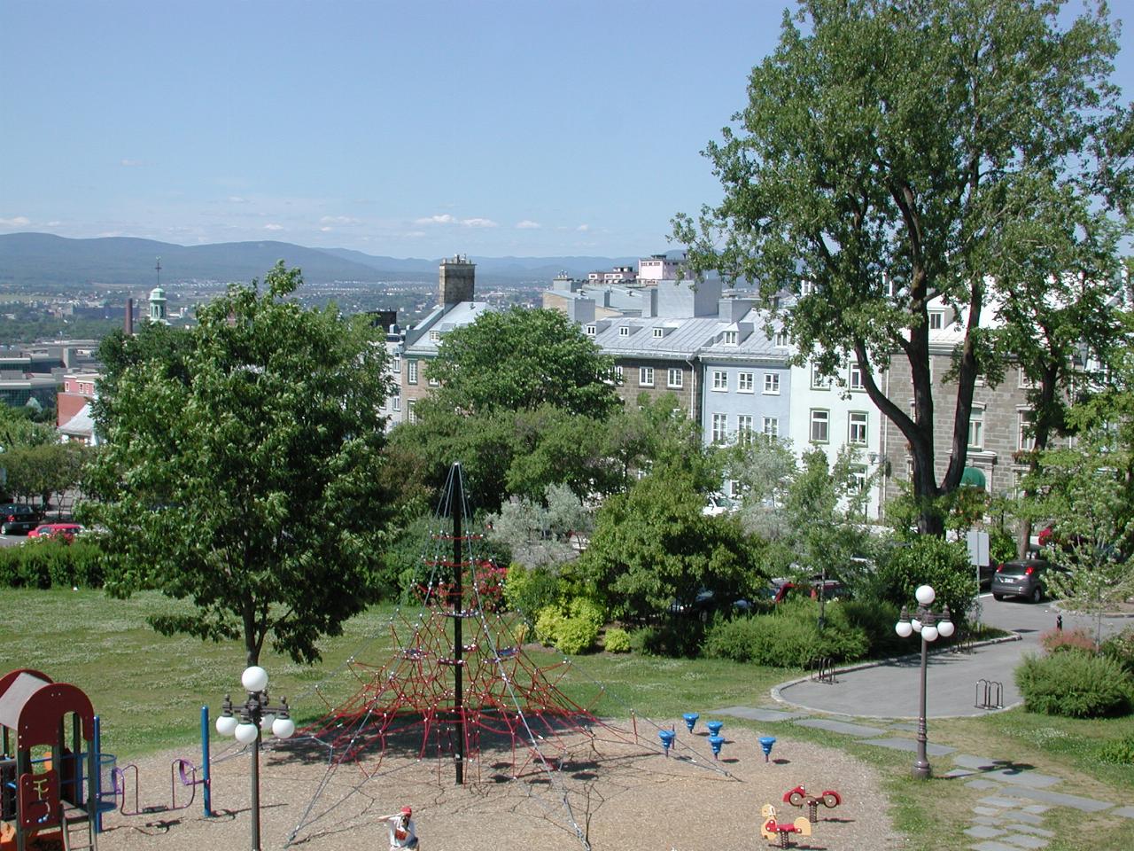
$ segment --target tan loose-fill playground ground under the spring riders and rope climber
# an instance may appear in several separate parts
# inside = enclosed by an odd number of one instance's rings
[[[675,719],[675,726],[677,738],[670,756],[653,750],[652,742],[643,748],[604,740],[596,744],[598,752],[582,742],[581,752],[591,758],[565,764],[553,780],[482,776],[479,782],[457,786],[451,766],[439,778],[438,767],[430,761],[390,755],[388,761],[404,765],[371,780],[357,767],[337,772],[332,787],[323,795],[325,815],[308,825],[291,846],[311,851],[384,849],[386,826],[378,817],[409,804],[428,851],[574,851],[583,844],[565,820],[555,790],[548,794],[548,787],[559,783],[595,851],[777,848],[778,843],[760,835],[761,807],[773,803],[781,823],[806,816],[806,807],[792,807],[781,800],[798,784],[815,794],[837,789],[841,803],[835,809],[819,807],[812,835],[789,837],[794,848],[849,851],[900,846],[877,773],[845,752],[781,740],[765,762],[759,733],[726,724],[719,760],[706,767],[704,761],[713,759],[703,722],[693,734],[680,718]],[[695,755],[696,761],[680,753]],[[185,751],[168,752],[138,764],[143,807],[153,803],[152,799],[169,800],[170,762],[184,756]],[[498,756],[510,759],[509,755]],[[492,755],[481,755],[482,764],[491,761]],[[325,770],[319,755],[303,749],[265,749],[261,766],[265,849],[284,846]],[[246,846],[248,795],[248,756],[238,751],[213,764],[213,818],[204,817],[200,797],[194,806],[177,811],[110,812],[104,816],[99,846],[103,851]]]

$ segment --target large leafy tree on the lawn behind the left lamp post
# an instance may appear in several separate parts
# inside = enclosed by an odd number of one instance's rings
[[[386,354],[361,318],[304,310],[278,264],[201,307],[183,380],[164,353],[126,363],[99,406],[105,446],[85,517],[109,530],[107,587],[156,587],[192,614],[162,633],[264,641],[319,658],[371,599],[389,515],[381,488]]]

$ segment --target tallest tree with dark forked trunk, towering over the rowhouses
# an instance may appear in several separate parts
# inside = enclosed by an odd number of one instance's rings
[[[1109,82],[1117,30],[1102,5],[1061,28],[1061,7],[803,0],[753,69],[736,126],[706,151],[725,200],[675,219],[695,270],[758,280],[769,300],[799,295],[786,327],[822,371],[857,362],[909,444],[922,532],[943,532],[937,498],[960,483],[976,377],[998,372],[985,313],[1004,305],[1005,321],[1022,322],[1013,305],[1044,285],[1027,266],[1036,205],[1052,227],[1061,205],[1059,226],[1092,242],[1080,252],[1077,237],[1061,241],[1048,268],[1112,266],[1110,211],[1125,211],[1134,141]],[[930,377],[934,301],[963,323],[947,399]],[[891,357],[912,377],[912,413],[879,386]],[[939,481],[942,402],[951,440]]]

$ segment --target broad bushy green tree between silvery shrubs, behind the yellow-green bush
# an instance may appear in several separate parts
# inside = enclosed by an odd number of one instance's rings
[[[650,474],[603,503],[578,570],[611,614],[645,621],[692,606],[702,589],[735,600],[761,587],[759,541],[703,507],[687,474]]]

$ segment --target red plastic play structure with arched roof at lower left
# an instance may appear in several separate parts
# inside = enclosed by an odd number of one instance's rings
[[[0,849],[96,848],[94,728],[94,709],[78,688],[29,668],[0,677]]]

